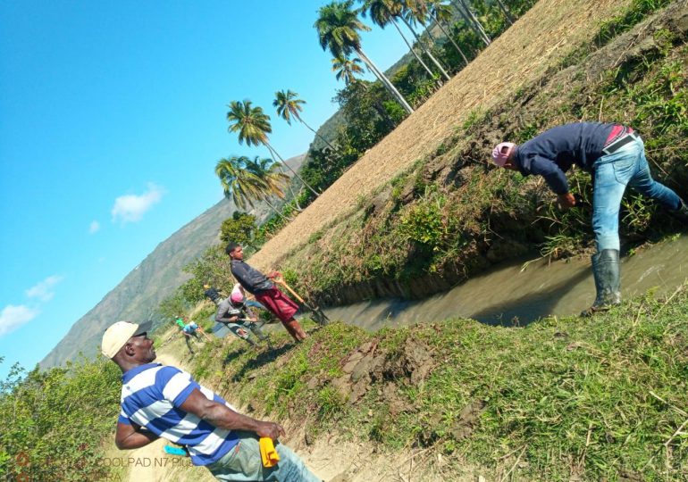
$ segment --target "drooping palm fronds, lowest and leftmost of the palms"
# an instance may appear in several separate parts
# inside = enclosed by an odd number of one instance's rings
[[[264,201],[278,216],[289,220],[269,200],[273,195],[284,198],[281,184],[285,183],[289,176],[281,173],[273,173],[277,176],[266,176],[259,163],[253,166],[251,163],[246,156],[222,158],[217,162],[215,175],[220,179],[224,196],[231,197],[240,209],[246,209],[247,205],[253,207],[255,201]]]

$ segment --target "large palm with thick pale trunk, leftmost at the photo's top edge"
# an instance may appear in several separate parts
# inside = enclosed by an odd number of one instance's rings
[[[368,69],[373,71],[375,77],[380,79],[382,85],[399,101],[399,104],[408,113],[414,112],[404,96],[399,93],[397,87],[392,85],[390,79],[387,79],[363,51],[358,30],[368,31],[370,27],[358,20],[357,12],[351,9],[353,3],[354,0],[344,0],[343,2],[335,0],[331,4],[320,7],[318,20],[314,24],[318,32],[320,46],[323,47],[323,50],[329,50],[335,58],[346,58],[352,52],[356,52],[358,57],[368,66]]]

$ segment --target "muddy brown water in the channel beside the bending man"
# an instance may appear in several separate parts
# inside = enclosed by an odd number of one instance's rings
[[[576,314],[595,297],[590,259],[519,260],[485,271],[446,293],[420,301],[379,299],[325,309],[331,320],[376,330],[448,318],[526,325]],[[688,235],[638,250],[621,260],[624,298],[654,290],[671,295],[688,279]]]

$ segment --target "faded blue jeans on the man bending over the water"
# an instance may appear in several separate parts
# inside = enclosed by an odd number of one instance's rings
[[[593,169],[592,230],[598,253],[619,249],[618,212],[626,186],[656,199],[669,211],[681,207],[681,199],[674,191],[652,179],[640,137],[616,153],[600,157]]]

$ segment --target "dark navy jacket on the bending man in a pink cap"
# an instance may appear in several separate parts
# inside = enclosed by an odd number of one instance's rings
[[[576,164],[592,172],[592,164],[602,156],[602,149],[615,125],[576,122],[545,130],[516,147],[514,163],[524,176],[538,174],[552,191],[566,194],[566,170]]]

